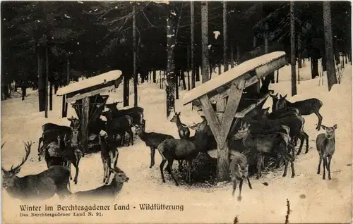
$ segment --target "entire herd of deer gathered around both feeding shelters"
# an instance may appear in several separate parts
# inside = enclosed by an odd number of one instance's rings
[[[306,99],[303,101],[290,102],[286,96],[278,98],[278,94],[270,97],[273,100],[272,112],[269,108],[255,108],[256,113],[249,113],[241,119],[241,125],[234,135],[229,136],[241,142],[241,146],[256,152],[257,164],[256,179],[261,178],[261,170],[264,168],[265,156],[277,158],[277,168],[282,162],[285,163],[283,177],[287,175],[287,167],[290,163],[294,178],[294,158],[295,147],[298,139],[300,140],[297,155],[306,142],[305,153],[309,151],[309,135],[304,131],[305,120],[302,116],[315,113],[318,117],[316,130],[321,127],[325,133],[321,133],[316,138],[316,149],[319,154],[318,174],[320,174],[321,163],[323,163],[323,179],[325,170],[330,175],[330,163],[335,152],[335,130],[337,125],[327,127],[321,125],[323,117],[319,113],[322,102],[318,99]],[[179,139],[172,135],[157,132],[145,132],[145,119],[143,119],[143,108],[133,107],[126,110],[118,110],[117,103],[106,104],[107,111],[102,112],[102,116],[107,118],[107,122],[102,126],[102,131],[98,136],[100,154],[102,158],[102,182],[103,185],[84,192],[70,192],[71,164],[76,168],[73,183],[78,183],[80,160],[87,153],[81,144],[80,120],[78,118],[68,118],[69,126],[46,123],[42,125],[42,136],[38,144],[38,161],[44,158],[47,163],[47,170],[34,175],[26,175],[22,178],[17,174],[21,166],[27,161],[30,155],[32,143],[25,143],[25,157],[22,162],[10,170],[1,166],[3,171],[3,187],[11,197],[21,200],[26,199],[49,199],[57,194],[60,198],[75,197],[82,199],[87,197],[107,197],[114,199],[119,194],[124,182],[128,177],[120,168],[117,167],[119,151],[118,147],[124,145],[125,135],[128,134],[128,145],[133,144],[133,129],[147,147],[150,147],[150,166],[155,165],[155,150],[162,156],[160,163],[160,173],[162,182],[164,170],[167,170],[176,185],[179,185],[177,178],[174,177],[172,166],[174,160],[179,162],[179,171],[183,169],[183,161],[186,161],[186,182],[191,183],[191,168],[193,159],[199,153],[207,153],[210,149],[217,148],[215,137],[210,132],[210,127],[205,117],[201,116],[202,121],[198,124],[184,125],[181,123],[180,113],[175,113],[170,122],[176,123]],[[251,114],[251,115],[250,115]],[[190,136],[190,130],[195,130],[195,134]],[[119,141],[117,141],[119,137]],[[117,143],[119,142],[119,143]],[[3,143],[1,149],[4,147]],[[237,151],[236,148],[229,148],[229,174],[233,183],[232,195],[234,195],[239,182],[239,197],[241,200],[241,187],[246,179],[249,188],[252,189],[249,180],[249,158],[244,153]],[[167,166],[164,168],[165,163]],[[113,178],[111,179],[111,175]]]

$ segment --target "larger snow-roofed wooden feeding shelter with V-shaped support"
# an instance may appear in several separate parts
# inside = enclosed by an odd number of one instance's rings
[[[235,66],[208,82],[191,89],[183,97],[183,104],[193,103],[193,109],[205,116],[217,142],[217,180],[229,180],[229,130],[240,118],[261,106],[269,94],[244,93],[246,87],[256,85],[260,80],[286,64],[285,52],[276,51]],[[249,96],[251,96],[249,99]],[[235,118],[235,119],[234,119]]]

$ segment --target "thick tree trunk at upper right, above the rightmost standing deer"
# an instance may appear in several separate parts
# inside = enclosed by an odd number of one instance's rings
[[[325,33],[326,66],[328,68],[328,91],[330,91],[332,86],[337,83],[335,74],[335,61],[333,58],[333,35],[330,1],[323,1],[323,30]]]

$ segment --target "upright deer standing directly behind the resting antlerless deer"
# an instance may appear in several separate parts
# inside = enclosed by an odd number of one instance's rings
[[[106,136],[100,135],[100,157],[103,163],[103,182],[107,185],[109,182],[110,174],[112,173],[112,162],[114,164],[113,168],[116,167],[118,162],[119,151],[112,147],[112,145],[107,144]]]

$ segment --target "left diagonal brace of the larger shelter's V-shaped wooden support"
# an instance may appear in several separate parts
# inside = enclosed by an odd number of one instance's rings
[[[216,113],[213,110],[212,105],[210,104],[210,100],[208,99],[207,95],[203,95],[200,98],[201,105],[203,108],[203,113],[205,115],[205,118],[208,122],[208,125],[210,125],[210,129],[213,132],[213,136],[215,136],[215,139],[218,142],[220,142],[220,133],[221,133],[221,127],[220,127],[220,122],[217,119]]]

